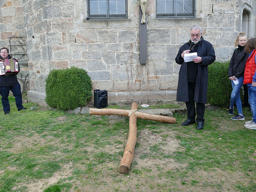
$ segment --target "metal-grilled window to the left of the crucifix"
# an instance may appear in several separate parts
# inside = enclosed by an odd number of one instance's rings
[[[127,0],[88,0],[88,18],[127,18]]]

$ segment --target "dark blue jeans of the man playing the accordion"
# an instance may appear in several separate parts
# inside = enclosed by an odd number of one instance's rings
[[[18,110],[23,108],[21,97],[21,85],[19,83],[12,86],[0,86],[0,94],[2,96],[1,100],[4,112],[10,111],[10,104],[8,99],[10,90],[12,91],[13,96],[15,97],[15,102]]]

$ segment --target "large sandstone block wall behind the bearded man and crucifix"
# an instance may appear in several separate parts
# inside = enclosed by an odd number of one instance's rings
[[[196,18],[160,19],[155,18],[155,1],[148,1],[147,64],[139,64],[137,1],[128,0],[127,19],[89,20],[85,19],[86,0],[24,1],[29,99],[45,104],[45,78],[49,71],[71,66],[88,71],[93,88],[106,89],[109,95],[114,93],[114,99],[123,91],[157,91],[152,95],[175,97],[172,91],[168,96],[166,90],[177,88],[180,66],[175,63],[175,57],[179,47],[190,39],[191,25],[201,25],[204,39],[214,46],[216,60],[227,61],[242,29],[243,7],[249,7],[251,16],[256,16],[254,0],[196,2]],[[251,23],[255,26],[255,21]],[[252,27],[252,36],[255,32]]]

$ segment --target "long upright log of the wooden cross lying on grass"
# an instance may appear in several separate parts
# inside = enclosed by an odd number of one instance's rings
[[[135,110],[137,108],[138,108],[138,103],[133,102],[131,110]],[[127,143],[125,146],[124,155],[119,165],[120,173],[127,173],[130,169],[136,140],[137,140],[137,116],[135,113],[132,113],[129,117],[129,135],[128,135]]]

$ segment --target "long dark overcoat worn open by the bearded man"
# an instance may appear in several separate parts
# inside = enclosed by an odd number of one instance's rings
[[[180,55],[183,51],[189,48],[190,42],[185,43],[180,47],[180,50],[175,58],[176,63],[180,66],[179,81],[177,88],[177,101],[188,102],[188,71],[187,62],[183,58],[180,60]],[[215,52],[213,45],[201,37],[198,42],[197,56],[202,58],[202,62],[198,63],[198,73],[196,78],[196,90],[194,101],[196,103],[207,103],[207,85],[208,85],[208,65],[215,61]]]

